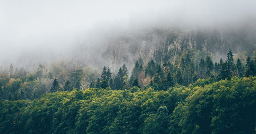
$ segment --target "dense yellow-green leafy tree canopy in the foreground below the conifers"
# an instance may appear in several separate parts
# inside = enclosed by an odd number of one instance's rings
[[[255,133],[256,77],[166,91],[89,88],[0,103],[0,133]]]

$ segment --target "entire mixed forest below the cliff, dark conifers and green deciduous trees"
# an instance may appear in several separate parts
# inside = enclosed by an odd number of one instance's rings
[[[0,75],[0,133],[254,134],[256,59],[226,56],[139,56],[131,72],[11,64]]]

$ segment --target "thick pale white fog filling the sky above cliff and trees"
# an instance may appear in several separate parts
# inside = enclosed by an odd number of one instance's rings
[[[0,0],[0,65],[72,60],[81,46],[82,56],[100,55],[113,36],[155,28],[255,30],[255,7],[255,0]]]

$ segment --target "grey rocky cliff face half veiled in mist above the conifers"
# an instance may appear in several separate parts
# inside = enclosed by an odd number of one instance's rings
[[[126,63],[131,69],[139,56],[145,63],[150,59],[162,63],[166,60],[173,61],[184,49],[225,55],[231,48],[233,53],[247,51],[252,54],[256,40],[255,32],[247,31],[170,30],[119,36],[108,44],[103,57],[109,61],[110,67],[117,68]]]

